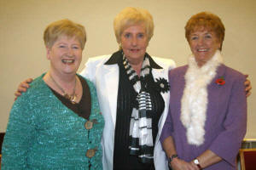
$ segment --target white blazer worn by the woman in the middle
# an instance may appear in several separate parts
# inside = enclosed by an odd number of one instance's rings
[[[84,70],[81,72],[83,77],[88,78],[96,86],[96,92],[105,119],[105,127],[102,134],[102,165],[104,170],[113,169],[113,145],[114,145],[114,128],[116,121],[117,97],[119,88],[119,66],[104,65],[111,55],[102,55],[88,59]],[[164,77],[168,80],[168,71],[176,65],[172,59],[163,59],[152,57],[154,61],[163,69],[152,69],[154,80]],[[160,133],[165,123],[168,107],[169,93],[161,93],[165,100],[165,110],[160,117],[159,133],[154,145],[154,166],[156,170],[168,170],[166,154],[160,144]]]

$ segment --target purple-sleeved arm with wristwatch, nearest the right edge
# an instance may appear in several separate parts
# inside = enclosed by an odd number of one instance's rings
[[[212,141],[209,150],[199,156],[199,160],[202,159],[200,162],[202,167],[216,163],[220,161],[220,158],[235,166],[236,155],[247,129],[247,99],[244,92],[244,81],[244,77],[239,77],[233,82],[227,114],[223,122],[224,131]],[[214,158],[210,161],[208,158],[212,154],[216,156],[212,156]]]

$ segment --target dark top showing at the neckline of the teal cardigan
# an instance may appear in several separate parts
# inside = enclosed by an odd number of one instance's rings
[[[79,116],[84,117],[85,119],[88,119],[90,116],[90,107],[91,107],[90,89],[87,82],[84,80],[84,78],[81,76],[78,76],[78,77],[83,88],[82,98],[80,99],[78,104],[72,104],[72,102],[69,99],[55,92],[54,89],[52,88],[50,89],[55,94],[55,96],[61,100],[61,103],[67,106],[68,109],[72,110]]]

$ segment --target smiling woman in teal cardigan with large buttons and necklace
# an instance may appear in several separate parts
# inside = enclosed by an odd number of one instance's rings
[[[50,68],[15,101],[2,169],[102,169],[104,121],[92,82],[76,74],[84,26],[59,20],[44,31]]]

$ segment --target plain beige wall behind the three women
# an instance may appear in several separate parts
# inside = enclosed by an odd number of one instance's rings
[[[4,132],[18,84],[48,70],[43,31],[55,20],[68,18],[86,27],[84,60],[111,54],[117,48],[113,17],[122,8],[147,8],[154,16],[154,37],[148,53],[186,64],[189,46],[183,26],[191,14],[211,11],[224,21],[224,60],[250,75],[254,85],[248,101],[247,138],[256,138],[256,1],[255,0],[0,0],[0,132]],[[80,71],[81,71],[80,68]]]

